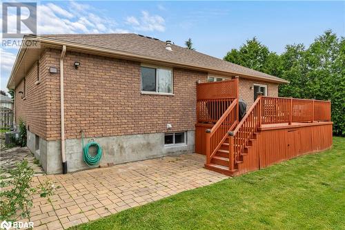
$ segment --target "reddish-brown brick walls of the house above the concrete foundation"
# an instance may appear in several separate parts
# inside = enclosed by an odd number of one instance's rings
[[[47,49],[41,57],[41,83],[34,84],[35,68],[27,76],[26,100],[16,97],[17,115],[30,131],[46,140],[60,137],[59,69],[60,50]],[[80,61],[76,70],[74,62]],[[142,95],[140,63],[76,52],[67,52],[64,61],[66,138],[130,135],[194,130],[196,82],[207,73],[174,68],[173,96]],[[240,96],[253,104],[253,81],[240,79]],[[255,82],[262,83],[262,82]],[[277,85],[268,85],[268,95],[277,96]],[[20,90],[21,84],[16,91]]]

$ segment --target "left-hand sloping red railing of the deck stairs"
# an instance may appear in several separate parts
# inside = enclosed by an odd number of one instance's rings
[[[234,99],[213,128],[206,130],[206,164],[210,164],[212,157],[228,137],[228,132],[237,126],[237,114],[238,99]]]

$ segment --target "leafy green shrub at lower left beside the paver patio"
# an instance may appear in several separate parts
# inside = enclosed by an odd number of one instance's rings
[[[40,193],[41,197],[49,198],[55,187],[50,181],[32,187],[32,176],[34,171],[23,160],[17,163],[16,168],[10,172],[6,180],[1,178],[0,182],[0,219],[15,221],[18,218],[30,217],[32,207],[32,195]]]

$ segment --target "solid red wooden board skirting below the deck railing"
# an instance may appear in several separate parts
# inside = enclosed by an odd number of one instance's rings
[[[333,122],[275,124],[260,129],[237,174],[263,169],[332,146]]]

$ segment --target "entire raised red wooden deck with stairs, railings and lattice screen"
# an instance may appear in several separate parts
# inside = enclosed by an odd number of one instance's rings
[[[238,79],[197,85],[195,152],[207,169],[239,175],[332,146],[330,101],[260,96],[239,121],[238,89]]]

